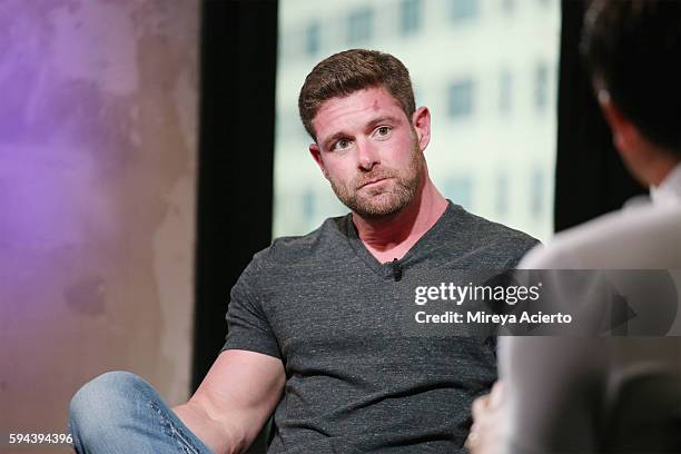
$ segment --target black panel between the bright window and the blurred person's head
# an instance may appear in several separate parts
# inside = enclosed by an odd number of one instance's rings
[[[555,230],[622,207],[644,194],[626,171],[601,116],[579,52],[584,2],[563,0],[559,81]]]

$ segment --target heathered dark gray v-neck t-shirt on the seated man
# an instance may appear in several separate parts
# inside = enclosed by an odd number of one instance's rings
[[[465,452],[494,343],[405,334],[394,314],[433,270],[513,268],[536,244],[450,201],[397,264],[374,258],[351,215],[256,254],[231,289],[224,351],[284,363],[268,452]]]

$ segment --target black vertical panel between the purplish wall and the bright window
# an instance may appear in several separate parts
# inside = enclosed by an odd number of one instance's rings
[[[204,1],[194,388],[225,342],[229,289],[272,236],[276,1]]]

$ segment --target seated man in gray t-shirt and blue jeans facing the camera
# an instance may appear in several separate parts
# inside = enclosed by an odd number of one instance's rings
[[[432,274],[507,269],[536,240],[433,185],[431,114],[393,56],[325,59],[298,107],[313,158],[352,213],[254,257],[231,290],[225,347],[188,403],[170,411],[130,374],[86,385],[71,405],[77,451],[239,452],[273,412],[270,453],[463,451],[471,402],[496,377],[494,342],[423,335],[405,307]],[[116,411],[92,422],[102,406]]]

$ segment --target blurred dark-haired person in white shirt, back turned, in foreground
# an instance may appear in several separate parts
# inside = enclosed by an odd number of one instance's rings
[[[680,9],[590,4],[581,50],[614,145],[651,203],[561,233],[520,268],[681,268]],[[640,315],[657,310],[649,299]],[[473,405],[474,454],[681,452],[679,337],[504,337],[500,376]]]

